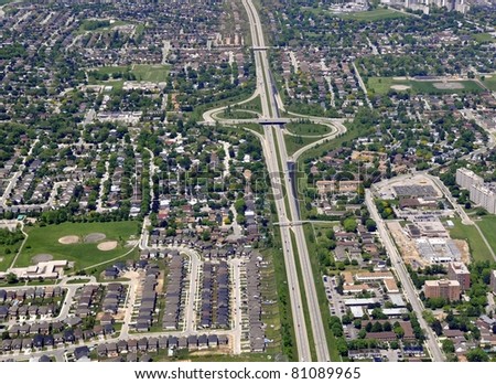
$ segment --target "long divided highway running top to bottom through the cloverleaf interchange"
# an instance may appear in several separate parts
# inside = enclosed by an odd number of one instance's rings
[[[276,102],[277,90],[271,82],[269,62],[263,41],[263,31],[260,19],[251,0],[242,0],[242,4],[247,11],[251,31],[251,40],[255,54],[255,63],[257,70],[257,88],[260,95],[262,106],[262,118],[279,118],[278,105]],[[292,188],[290,173],[288,170],[288,153],[285,150],[284,138],[279,126],[266,126],[266,139],[262,140],[263,154],[266,157],[268,170],[271,177],[272,191],[277,214],[280,223],[288,223],[291,220],[299,220],[300,212],[298,210],[298,201]],[[278,153],[279,148],[279,153]],[[279,160],[282,170],[279,167]],[[283,180],[281,180],[283,179]],[[284,196],[282,185],[285,186],[288,196]],[[289,201],[290,212],[287,212],[284,199]],[[291,218],[290,218],[291,217]],[[324,324],[319,306],[319,299],[313,280],[312,266],[310,255],[306,248],[306,241],[303,227],[296,226],[291,228],[289,225],[281,225],[282,250],[284,254],[284,264],[288,275],[288,284],[291,299],[291,310],[294,321],[294,331],[296,335],[296,346],[300,361],[311,361],[310,343],[315,345],[316,358],[319,361],[330,361],[327,342],[325,338]],[[291,231],[294,233],[296,243],[296,254],[293,249],[291,241]],[[298,257],[299,256],[299,257]],[[296,264],[299,258],[302,270],[302,287],[306,294],[306,305],[309,306],[311,324],[306,324],[303,313],[303,305],[300,292],[300,281],[296,274]],[[306,327],[312,327],[314,340],[309,340]]]

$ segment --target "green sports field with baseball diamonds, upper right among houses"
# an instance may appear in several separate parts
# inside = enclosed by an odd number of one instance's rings
[[[473,93],[477,94],[483,90],[483,88],[473,81],[460,81],[454,83],[460,83],[463,85],[463,89],[440,89],[434,86],[435,83],[441,83],[439,81],[433,82],[419,82],[414,79],[395,79],[393,77],[369,77],[367,81],[367,89],[373,94],[379,96],[386,95],[389,90],[392,90],[392,86],[407,86],[408,89],[396,89],[397,92],[410,92],[412,94],[428,94],[428,95],[440,95],[440,94],[456,94],[456,93]]]

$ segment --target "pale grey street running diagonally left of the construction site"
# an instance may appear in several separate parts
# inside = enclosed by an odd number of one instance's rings
[[[410,275],[405,267],[405,263],[396,248],[396,245],[389,234],[388,228],[386,227],[386,223],[379,216],[376,204],[374,204],[374,199],[370,190],[365,191],[365,203],[367,204],[368,212],[370,212],[370,217],[377,223],[377,231],[379,232],[379,237],[386,247],[388,255],[391,259],[391,265],[395,268],[395,271],[398,275],[398,278],[401,281],[401,286],[403,289],[403,294],[408,298],[408,301],[411,303],[413,311],[417,314],[417,319],[419,320],[420,327],[427,332],[425,343],[431,353],[432,360],[435,362],[444,361],[444,355],[439,346],[438,339],[432,331],[432,329],[428,326],[425,320],[422,318],[423,303],[417,295],[417,290],[413,286],[413,282],[410,279]]]

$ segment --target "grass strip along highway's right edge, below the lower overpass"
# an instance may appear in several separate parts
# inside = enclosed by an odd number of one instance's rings
[[[330,223],[332,224],[332,223]],[[325,226],[326,224],[324,224]],[[328,300],[325,296],[324,282],[322,280],[321,267],[316,258],[315,238],[313,236],[312,224],[303,224],[303,231],[305,233],[306,246],[309,247],[310,264],[312,265],[313,280],[315,282],[315,290],[319,299],[319,307],[321,308],[322,322],[324,324],[325,339],[327,341],[328,353],[331,361],[342,361],[341,354],[336,348],[336,339],[328,328],[331,320],[331,313],[328,310]]]

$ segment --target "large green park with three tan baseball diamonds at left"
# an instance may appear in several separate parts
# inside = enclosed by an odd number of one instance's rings
[[[18,267],[31,265],[31,259],[37,254],[50,254],[54,259],[75,262],[75,270],[123,255],[131,248],[126,245],[130,238],[138,238],[139,222],[111,223],[63,223],[58,225],[36,226],[26,228],[29,239],[15,263]],[[112,250],[99,250],[96,243],[83,243],[83,238],[90,233],[104,233],[106,241],[117,241]],[[63,236],[78,236],[77,244],[61,244]]]

